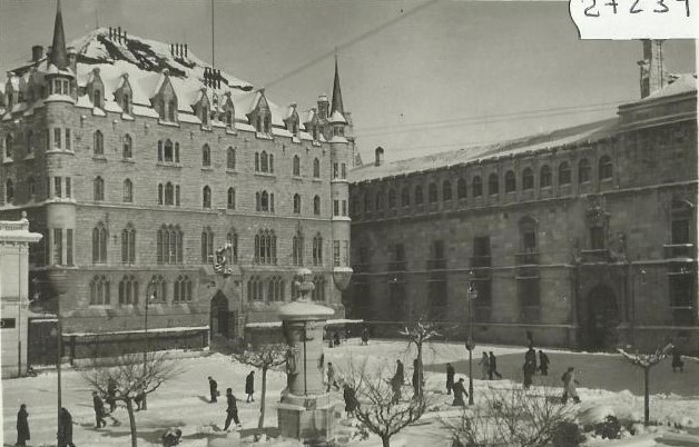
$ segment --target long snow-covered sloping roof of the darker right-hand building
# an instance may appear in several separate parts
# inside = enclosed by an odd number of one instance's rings
[[[513,156],[528,151],[583,143],[611,137],[618,129],[618,118],[595,121],[581,126],[536,133],[493,145],[473,146],[457,150],[415,157],[381,166],[365,165],[350,171],[350,180],[361,182],[395,177],[430,169],[447,168],[474,161],[485,161],[499,157]]]

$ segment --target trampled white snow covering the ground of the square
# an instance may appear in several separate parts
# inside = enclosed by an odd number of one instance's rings
[[[484,393],[489,387],[514,387],[519,386],[521,377],[521,365],[524,348],[522,347],[495,347],[480,346],[481,350],[492,350],[499,357],[499,369],[505,376],[503,380],[488,381],[481,380],[478,368],[479,356],[474,356],[474,388],[476,405],[482,404]],[[476,352],[474,352],[476,354]],[[358,365],[364,360],[372,367],[385,366],[387,372],[395,369],[396,358],[402,358],[405,362],[405,375],[410,379],[412,375],[412,359],[416,356],[414,347],[406,349],[404,341],[380,341],[372,340],[370,346],[360,346],[360,341],[351,339],[337,348],[326,348],[326,361],[332,361],[338,371],[348,366],[350,362]],[[433,365],[425,374],[427,396],[432,400],[432,407],[439,408],[424,417],[417,425],[408,427],[392,439],[393,446],[449,446],[450,441],[445,430],[442,428],[440,419],[456,417],[461,410],[451,407],[451,396],[446,396],[444,389],[444,367],[443,364],[451,361],[456,366],[457,377],[465,377],[467,367],[464,361],[467,352],[462,344],[439,342],[424,348],[424,361]],[[642,387],[639,387],[638,376],[642,374],[636,369],[626,369],[617,362],[614,356],[581,355],[567,351],[555,351],[552,357],[552,369],[550,380],[535,378],[535,385],[550,384],[560,390],[560,376],[562,368],[574,358],[580,359],[584,365],[577,367],[582,369],[582,383],[579,388],[582,404],[574,406],[580,421],[599,420],[607,414],[614,414],[620,419],[642,420],[643,399]],[[229,357],[213,354],[199,358],[186,358],[175,360],[181,367],[181,375],[167,383],[155,395],[148,399],[148,410],[137,413],[138,445],[141,447],[158,446],[161,433],[168,427],[179,427],[183,430],[183,447],[215,447],[239,445],[237,434],[225,437],[215,434],[216,428],[223,427],[225,414],[225,398],[219,398],[218,403],[208,403],[207,376],[213,376],[218,381],[221,396],[226,388],[232,387],[238,397],[238,409],[244,428],[254,428],[257,425],[259,414],[260,374],[256,376],[256,401],[245,403],[245,376],[250,368],[236,364]],[[669,365],[661,364],[651,371],[651,393],[659,388],[661,383],[670,383],[673,393],[653,394],[651,397],[651,419],[662,424],[668,421],[682,424],[696,430],[699,426],[699,391],[697,369],[699,362],[688,359],[687,370],[683,374],[672,375],[668,371]],[[603,371],[607,380],[597,383],[595,371]],[[519,375],[518,375],[519,372]],[[514,385],[510,379],[514,379]],[[467,379],[466,379],[467,381]],[[558,383],[557,383],[558,381]],[[286,383],[282,371],[269,371],[267,377],[267,411],[266,426],[273,427],[277,424],[276,404],[279,394]],[[607,383],[609,386],[604,386]],[[627,385],[622,387],[622,385]],[[642,385],[642,379],[640,379]],[[584,388],[585,386],[592,388]],[[534,387],[532,393],[541,393]],[[81,379],[78,370],[68,369],[63,374],[63,406],[72,414],[78,425],[73,430],[75,443],[78,446],[129,446],[128,417],[124,408],[115,411],[115,417],[122,424],[120,426],[108,425],[106,428],[95,428],[95,417],[92,411],[91,390]],[[2,380],[2,403],[4,434],[3,446],[13,445],[16,415],[19,405],[26,403],[29,410],[29,424],[32,435],[32,446],[55,445],[56,434],[56,374],[55,371],[43,372],[38,377]],[[334,393],[334,398],[341,403],[342,394]],[[111,423],[108,419],[108,423]],[[343,416],[339,423],[341,433],[350,433],[350,421]],[[589,439],[588,446],[626,447],[626,446],[699,446],[699,431],[686,433],[686,430],[673,430],[667,425],[642,427],[637,425],[641,433],[620,440]],[[677,431],[677,433],[675,433]],[[247,443],[244,443],[247,445]],[[265,446],[297,446],[293,440],[268,440]],[[375,437],[370,437],[368,441],[351,440],[352,447],[373,447],[381,443]]]

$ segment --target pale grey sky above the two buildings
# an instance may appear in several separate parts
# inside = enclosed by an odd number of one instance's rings
[[[50,44],[55,10],[0,0],[1,72]],[[62,10],[69,41],[120,26],[211,61],[210,0]],[[563,1],[214,0],[214,37],[217,68],[302,109],[332,93],[336,53],[365,162],[377,146],[390,161],[610,118],[640,97],[641,43],[579,40]],[[697,71],[695,41],[663,48],[670,72]]]

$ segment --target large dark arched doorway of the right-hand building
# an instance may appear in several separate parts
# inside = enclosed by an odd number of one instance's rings
[[[588,294],[588,349],[607,350],[617,342],[620,322],[619,305],[614,291],[597,286]]]

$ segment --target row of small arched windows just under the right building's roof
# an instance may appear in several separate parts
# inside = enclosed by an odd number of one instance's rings
[[[539,187],[549,188],[552,185],[552,172],[549,165],[544,165],[540,169]],[[572,182],[572,171],[570,163],[563,161],[558,167],[558,183],[559,186],[570,185]],[[600,181],[610,180],[613,176],[613,167],[611,158],[609,156],[602,156],[598,162],[598,179]],[[583,158],[578,162],[578,182],[585,183],[592,180],[592,167],[588,159]],[[504,191],[515,192],[518,189],[516,176],[513,170],[508,170],[504,176]],[[532,168],[524,168],[522,170],[521,189],[523,191],[534,189],[534,171]],[[453,199],[453,187],[450,180],[442,182],[442,197],[443,201]],[[471,179],[471,197],[483,196],[483,180],[481,176],[473,176]],[[491,173],[488,178],[488,195],[500,193],[500,176],[495,172]],[[456,180],[456,198],[466,198],[466,180],[460,178]],[[423,205],[425,202],[425,195],[422,185],[417,185],[413,189],[412,199],[414,205]],[[429,203],[435,203],[440,200],[439,187],[436,182],[431,182],[427,186],[426,201]],[[396,208],[397,196],[394,189],[388,190],[388,209]],[[401,189],[401,206],[411,206],[411,190],[408,187]],[[364,212],[371,212],[372,209],[382,210],[384,208],[384,192],[378,191],[374,196],[374,200],[368,193],[364,195]]]

